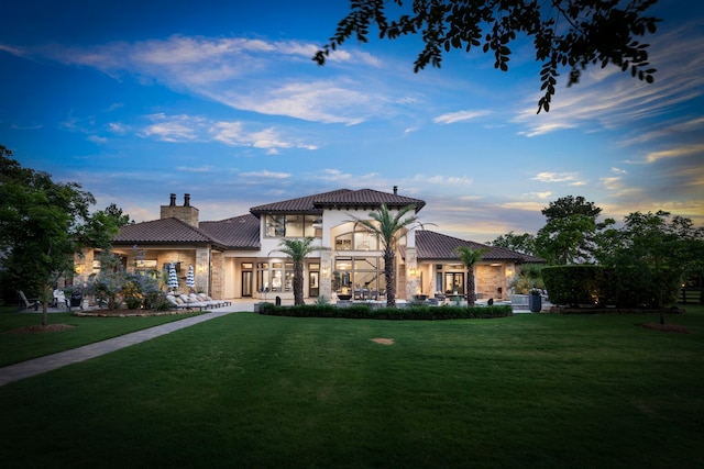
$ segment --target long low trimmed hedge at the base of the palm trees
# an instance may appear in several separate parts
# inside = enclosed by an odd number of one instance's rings
[[[391,320],[391,321],[442,321],[506,317],[514,314],[509,305],[495,306],[426,306],[371,308],[366,304],[353,304],[338,308],[332,304],[304,304],[298,306],[276,306],[273,303],[260,304],[260,314],[289,317],[340,317],[351,320]]]

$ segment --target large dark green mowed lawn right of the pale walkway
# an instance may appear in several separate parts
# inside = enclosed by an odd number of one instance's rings
[[[3,467],[704,467],[704,310],[235,313],[0,388]],[[374,338],[393,339],[393,345]]]

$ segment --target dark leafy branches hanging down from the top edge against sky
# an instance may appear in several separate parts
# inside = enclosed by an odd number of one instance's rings
[[[410,3],[413,11],[404,3]],[[547,4],[546,4],[547,3]],[[657,0],[354,0],[350,13],[314,60],[319,65],[351,37],[367,42],[370,26],[380,38],[396,40],[420,34],[425,47],[414,71],[428,64],[440,67],[451,49],[470,52],[481,47],[494,55],[494,68],[508,70],[510,43],[519,36],[532,38],[536,60],[541,63],[538,112],[550,111],[557,77],[570,69],[568,86],[579,82],[587,66],[612,64],[639,80],[653,81],[648,44],[640,37],[654,33],[657,18],[646,14]],[[396,7],[396,11],[391,11]],[[398,13],[397,19],[389,16]]]

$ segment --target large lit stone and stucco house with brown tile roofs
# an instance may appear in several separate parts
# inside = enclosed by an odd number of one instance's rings
[[[282,253],[285,237],[310,236],[321,247],[307,258],[304,294],[308,299],[381,300],[385,295],[384,259],[378,239],[360,219],[386,204],[389,210],[415,205],[416,214],[426,205],[419,199],[372,189],[340,189],[314,196],[253,206],[250,213],[215,222],[199,221],[198,209],[185,194],[183,205],[170,194],[161,206],[160,220],[123,226],[114,238],[113,252],[128,270],[161,270],[174,263],[179,284],[185,288],[189,266],[194,266],[196,289],[216,299],[275,297],[293,299],[294,268]],[[458,246],[486,248],[475,266],[480,298],[507,297],[509,282],[521,264],[543,259],[508,249],[485,246],[427,230],[409,230],[396,254],[396,297],[415,294],[463,294],[466,269],[459,260]],[[100,269],[95,253],[76,258],[79,280]]]

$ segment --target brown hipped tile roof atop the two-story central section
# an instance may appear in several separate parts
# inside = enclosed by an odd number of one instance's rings
[[[340,189],[332,192],[323,192],[315,196],[301,197],[299,199],[285,200],[265,205],[257,205],[250,209],[254,215],[264,213],[311,213],[320,214],[323,209],[376,209],[385,203],[389,209],[414,204],[416,212],[426,204],[420,199],[398,196],[395,193],[381,192],[372,189]]]

